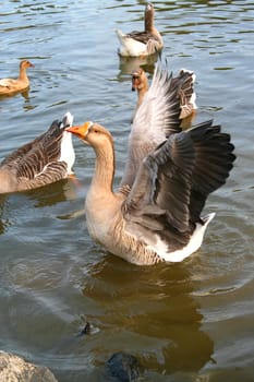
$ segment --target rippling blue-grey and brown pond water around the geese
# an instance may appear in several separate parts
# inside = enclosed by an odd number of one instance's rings
[[[112,132],[118,183],[136,94],[113,29],[140,29],[144,4],[1,2],[1,77],[22,58],[35,64],[28,96],[0,100],[1,158],[70,110],[75,122]],[[254,2],[155,5],[170,68],[196,72],[196,122],[213,118],[235,145],[230,179],[206,204],[216,218],[181,264],[138,267],[107,253],[82,215],[94,153],[75,139],[80,188],[64,181],[0,196],[0,348],[61,382],[105,381],[105,361],[121,350],[137,357],[147,381],[254,381]],[[86,322],[92,333],[76,337]]]

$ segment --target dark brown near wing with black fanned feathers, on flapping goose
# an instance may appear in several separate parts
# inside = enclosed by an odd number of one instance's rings
[[[229,134],[211,121],[171,135],[143,160],[125,201],[125,219],[152,230],[190,232],[208,194],[226,182],[233,148]]]

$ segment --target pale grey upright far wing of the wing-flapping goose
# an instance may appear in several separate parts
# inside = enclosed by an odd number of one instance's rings
[[[152,85],[135,114],[121,186],[131,188],[143,158],[170,134],[181,131],[179,86],[167,67],[158,63]]]

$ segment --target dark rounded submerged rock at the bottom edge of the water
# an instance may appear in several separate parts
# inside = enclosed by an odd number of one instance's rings
[[[119,382],[142,380],[143,370],[137,359],[125,353],[114,353],[107,361],[109,373]]]

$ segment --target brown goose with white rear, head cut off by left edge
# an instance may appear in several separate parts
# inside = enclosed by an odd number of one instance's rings
[[[0,165],[0,193],[35,189],[68,178],[75,154],[72,135],[65,131],[73,117],[68,112],[61,122],[10,154]]]

